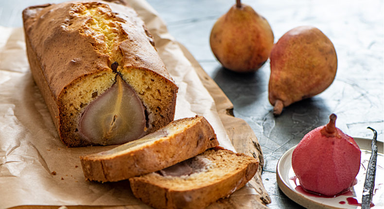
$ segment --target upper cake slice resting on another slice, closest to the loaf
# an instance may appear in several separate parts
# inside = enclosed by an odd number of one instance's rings
[[[212,126],[200,116],[171,122],[141,139],[80,160],[88,180],[119,181],[167,168],[218,144]]]

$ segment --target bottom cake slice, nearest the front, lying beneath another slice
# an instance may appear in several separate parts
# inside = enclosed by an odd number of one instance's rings
[[[253,157],[216,147],[129,181],[133,194],[156,209],[200,209],[242,188],[258,165]]]

